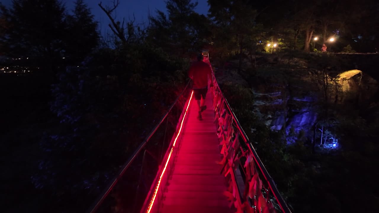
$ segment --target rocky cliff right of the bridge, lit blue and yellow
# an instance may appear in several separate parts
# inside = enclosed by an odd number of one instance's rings
[[[254,113],[272,130],[295,135],[303,131],[311,139],[316,122],[324,119],[326,105],[377,102],[373,99],[378,95],[378,82],[361,70],[318,70],[298,59],[286,66],[273,63],[273,58],[264,61],[271,63],[244,72],[226,72],[219,81],[249,85],[254,95]],[[330,132],[328,137],[324,141],[336,139]],[[289,143],[293,141],[288,138]]]

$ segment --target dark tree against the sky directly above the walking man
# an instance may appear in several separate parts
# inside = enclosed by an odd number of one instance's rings
[[[168,0],[166,9],[150,16],[147,41],[177,56],[190,56],[209,43],[209,21],[194,11],[197,2],[191,0]]]

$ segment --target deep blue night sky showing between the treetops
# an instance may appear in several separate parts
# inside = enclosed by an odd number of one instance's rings
[[[1,0],[1,2],[10,6],[12,0]],[[67,9],[71,10],[74,7],[75,0],[63,0]],[[108,27],[108,17],[106,17],[105,13],[100,9],[99,2],[102,2],[102,5],[112,5],[112,0],[85,0],[88,6],[91,8],[92,14],[95,15],[95,20],[99,21],[100,28],[102,33],[105,33],[109,30]],[[208,13],[208,3],[207,0],[198,0],[199,4],[197,5],[195,11],[200,14]],[[117,8],[117,18],[128,19],[129,17],[133,17],[133,14],[136,18],[136,22],[138,23],[147,23],[147,14],[155,14],[155,10],[159,9],[161,11],[166,12],[166,3],[164,0],[120,0],[120,5]]]

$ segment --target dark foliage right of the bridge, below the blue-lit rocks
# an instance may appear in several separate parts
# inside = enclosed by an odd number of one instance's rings
[[[341,63],[327,54],[310,56],[308,60],[313,60],[310,64],[314,64],[312,65],[314,68],[327,69],[329,74]],[[265,74],[270,75],[267,72]],[[307,141],[304,131],[296,133],[290,128],[288,134],[275,132],[265,125],[265,121],[255,116],[252,106],[254,99],[249,88],[229,83],[222,85],[222,90],[266,169],[293,211],[311,213],[361,211],[354,203],[346,202],[354,194],[365,195],[358,196],[357,202],[364,202],[367,199],[370,202],[377,202],[377,187],[362,188],[355,184],[362,181],[375,182],[374,177],[378,175],[377,171],[372,169],[379,162],[377,155],[374,154],[379,149],[379,144],[376,142],[379,135],[375,130],[379,124],[377,113],[370,113],[374,119],[370,119],[369,124],[370,116],[362,116],[367,110],[365,108],[357,109],[355,105],[347,103],[330,108],[328,118],[320,121],[317,127],[321,128],[321,125],[324,125],[325,132],[331,131],[337,134],[340,147],[334,151],[325,152],[318,149],[316,153],[312,153],[312,146]],[[288,138],[295,138],[296,141],[287,145]],[[319,143],[319,139],[317,141]],[[305,188],[307,190],[304,190]],[[366,212],[377,211],[375,205],[362,208]]]

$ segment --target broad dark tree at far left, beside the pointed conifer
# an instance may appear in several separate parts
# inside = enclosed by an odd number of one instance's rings
[[[58,0],[14,0],[2,5],[1,16],[8,28],[0,43],[10,56],[35,56],[53,63],[64,49],[65,8]]]

